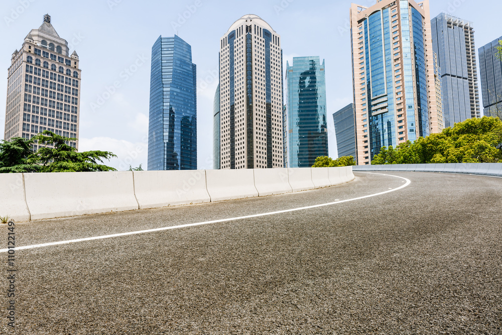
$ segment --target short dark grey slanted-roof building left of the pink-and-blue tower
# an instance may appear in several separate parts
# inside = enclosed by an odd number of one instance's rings
[[[356,157],[355,150],[355,110],[354,104],[350,103],[333,114],[335,125],[336,149],[338,157]]]

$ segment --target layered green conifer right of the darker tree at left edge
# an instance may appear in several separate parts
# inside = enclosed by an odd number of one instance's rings
[[[91,172],[91,171],[116,171],[116,169],[106,166],[103,159],[117,157],[108,151],[86,151],[77,152],[75,148],[68,145],[74,138],[62,137],[50,131],[44,131],[33,137],[38,143],[51,145],[38,149],[39,163],[42,165],[40,172]]]

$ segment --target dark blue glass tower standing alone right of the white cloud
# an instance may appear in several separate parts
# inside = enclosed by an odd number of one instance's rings
[[[148,170],[197,169],[197,68],[192,47],[160,36],[152,47]]]

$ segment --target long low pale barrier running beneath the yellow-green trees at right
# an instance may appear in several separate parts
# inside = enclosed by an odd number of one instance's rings
[[[353,171],[420,171],[477,174],[502,177],[502,163],[385,164],[357,165]]]

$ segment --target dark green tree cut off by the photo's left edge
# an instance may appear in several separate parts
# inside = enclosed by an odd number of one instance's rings
[[[22,137],[0,143],[0,173],[28,173],[40,170],[32,144],[34,139]]]

